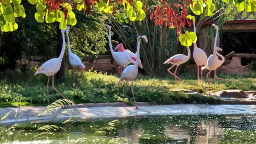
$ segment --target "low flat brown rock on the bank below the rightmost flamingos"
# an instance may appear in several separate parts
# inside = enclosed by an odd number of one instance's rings
[[[216,92],[216,95],[219,95],[221,98],[248,98],[248,95],[245,92],[238,89],[219,91]]]

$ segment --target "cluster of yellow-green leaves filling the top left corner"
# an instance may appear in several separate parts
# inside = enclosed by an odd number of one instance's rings
[[[18,29],[15,17],[26,17],[21,0],[2,0],[0,2],[0,26],[1,32],[13,32]]]

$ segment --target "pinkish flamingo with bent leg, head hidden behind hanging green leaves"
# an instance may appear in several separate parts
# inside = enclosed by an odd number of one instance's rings
[[[175,56],[172,56],[171,58],[167,59],[166,62],[164,62],[164,64],[167,64],[167,63],[171,63],[172,64],[172,67],[167,69],[167,71],[172,74],[174,77],[175,77],[175,80],[176,78],[181,81],[181,78],[179,78],[177,75],[176,75],[176,71],[177,71],[177,68],[179,67],[179,65],[187,62],[190,58],[190,49],[189,47],[187,46],[187,50],[188,50],[188,56],[185,56],[185,55],[182,55],[182,54],[178,54],[178,55],[175,55]],[[174,71],[174,74],[170,71],[175,65],[177,65],[175,71]]]

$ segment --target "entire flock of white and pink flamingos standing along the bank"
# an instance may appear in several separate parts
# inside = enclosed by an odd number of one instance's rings
[[[195,21],[193,20],[193,26],[194,26],[194,33],[196,33],[196,27],[195,27]],[[208,72],[208,74],[206,75],[209,86],[211,86],[211,82],[210,82],[210,74],[211,71],[214,70],[214,82],[215,79],[220,79],[219,77],[217,77],[216,74],[216,69],[218,67],[220,67],[224,61],[225,58],[220,55],[220,53],[218,53],[218,51],[222,51],[222,49],[220,49],[219,47],[217,47],[217,37],[218,37],[218,26],[213,24],[212,25],[215,29],[216,29],[216,37],[214,39],[214,51],[213,51],[213,55],[211,55],[210,57],[207,58],[206,53],[200,49],[199,47],[197,47],[196,42],[193,43],[194,46],[194,51],[193,51],[193,58],[194,61],[197,65],[197,92],[199,91],[199,80],[200,80],[200,70],[201,70],[201,82],[202,82],[202,88],[203,88],[203,77],[202,77],[202,70],[203,69],[208,69],[210,70]],[[118,44],[117,47],[115,47],[115,49],[113,50],[113,46],[111,43],[111,26],[107,25],[107,29],[109,32],[109,48],[110,48],[110,52],[114,58],[114,60],[120,65],[118,67],[118,71],[120,74],[120,80],[118,85],[120,85],[120,83],[122,83],[124,81],[124,85],[127,84],[127,82],[131,82],[131,92],[132,92],[132,96],[134,99],[134,105],[136,107],[136,109],[138,109],[138,105],[136,104],[136,99],[135,99],[135,95],[133,93],[133,81],[136,79],[137,75],[138,75],[138,67],[143,68],[142,62],[139,59],[139,48],[140,48],[140,44],[141,44],[141,39],[144,39],[146,41],[146,43],[148,42],[147,36],[143,35],[143,36],[138,36],[137,37],[137,51],[136,53],[131,52],[130,50],[125,50],[124,49],[124,45]],[[75,55],[72,51],[71,51],[71,46],[70,46],[70,41],[69,41],[69,32],[70,27],[67,27],[66,29],[61,29],[61,33],[62,33],[62,50],[60,53],[60,56],[58,58],[53,58],[50,59],[49,61],[46,61],[44,64],[41,65],[41,67],[39,67],[36,71],[36,73],[34,75],[37,74],[44,74],[46,76],[48,76],[48,82],[46,85],[46,89],[47,89],[47,100],[48,100],[48,104],[49,104],[49,80],[50,80],[50,76],[52,76],[53,80],[52,80],[52,88],[59,93],[62,98],[66,99],[55,87],[54,87],[54,75],[57,73],[57,71],[60,70],[61,67],[61,61],[62,58],[64,56],[65,53],[65,47],[66,47],[66,43],[65,43],[65,32],[67,34],[67,42],[68,42],[68,58],[69,58],[69,63],[72,66],[72,71],[73,71],[73,83],[74,83],[74,79],[75,79],[75,68],[80,67],[81,71],[83,73],[83,70],[85,70],[85,65],[82,63],[81,59]],[[116,51],[117,50],[117,51]],[[183,54],[178,54],[178,55],[174,55],[171,58],[167,59],[166,62],[164,62],[164,64],[172,64],[172,66],[170,68],[167,69],[168,73],[172,74],[175,77],[175,80],[178,79],[178,81],[181,81],[181,78],[178,77],[176,75],[177,69],[179,67],[179,65],[188,62],[190,56],[191,56],[191,52],[189,47],[187,46],[187,51],[188,51],[188,55],[183,55]],[[221,60],[219,60],[218,56],[221,58]],[[204,67],[202,67],[204,65]],[[176,66],[176,69],[174,70],[174,73],[171,72],[171,69]],[[220,79],[220,80],[225,80],[225,79]],[[228,81],[228,80],[226,80]],[[210,93],[209,93],[210,95]],[[123,86],[123,106],[126,106],[125,102],[124,102],[124,86]]]

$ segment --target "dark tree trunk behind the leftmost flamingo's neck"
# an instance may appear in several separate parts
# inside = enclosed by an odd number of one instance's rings
[[[56,29],[57,29],[57,42],[58,42],[57,47],[56,47],[56,54],[57,54],[57,57],[59,57],[60,53],[61,53],[61,49],[62,49],[62,34],[59,29],[59,25],[57,25]],[[64,45],[66,45],[66,44],[64,44]],[[65,55],[62,58],[61,68],[58,71],[58,73],[56,74],[56,77],[60,82],[63,82],[65,79]]]

